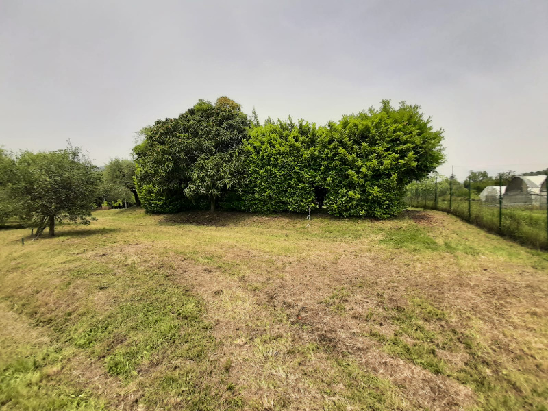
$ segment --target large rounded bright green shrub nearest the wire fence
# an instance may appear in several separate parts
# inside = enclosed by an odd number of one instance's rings
[[[406,185],[443,160],[443,130],[434,131],[418,105],[390,101],[329,123],[319,138],[325,206],[338,216],[386,218],[405,208]]]

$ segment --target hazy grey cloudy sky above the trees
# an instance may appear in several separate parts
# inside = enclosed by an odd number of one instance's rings
[[[440,172],[542,169],[548,1],[0,0],[5,148],[102,165],[220,95],[316,123],[406,100],[445,129]]]

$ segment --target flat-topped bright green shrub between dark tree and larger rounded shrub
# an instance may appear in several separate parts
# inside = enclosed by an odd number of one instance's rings
[[[262,213],[316,208],[316,125],[278,120],[254,127],[249,134],[244,145],[245,184],[236,208]]]

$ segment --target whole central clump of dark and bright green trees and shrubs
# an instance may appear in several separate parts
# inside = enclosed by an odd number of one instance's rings
[[[406,186],[443,160],[443,130],[417,105],[382,101],[325,126],[249,119],[227,97],[200,100],[141,131],[136,189],[149,212],[221,207],[386,218],[405,207]]]

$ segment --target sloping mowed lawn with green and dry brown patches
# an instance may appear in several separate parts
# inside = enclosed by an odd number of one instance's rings
[[[2,410],[548,410],[548,253],[436,211],[95,216],[0,230]]]

